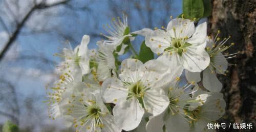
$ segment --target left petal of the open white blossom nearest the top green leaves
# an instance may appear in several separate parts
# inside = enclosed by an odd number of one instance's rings
[[[150,35],[145,37],[145,44],[149,47],[154,53],[160,54],[164,52],[164,49],[170,46],[170,43],[166,40],[168,37],[167,32],[163,30],[155,30]]]

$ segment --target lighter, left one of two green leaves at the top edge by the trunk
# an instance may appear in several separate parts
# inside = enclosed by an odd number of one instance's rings
[[[185,18],[200,19],[204,15],[203,0],[183,0],[182,10]]]

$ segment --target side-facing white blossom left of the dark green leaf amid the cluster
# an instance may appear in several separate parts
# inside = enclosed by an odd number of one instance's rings
[[[115,58],[113,55],[114,49],[110,45],[105,45],[101,41],[97,42],[99,46],[97,56],[97,77],[100,81],[116,75]]]

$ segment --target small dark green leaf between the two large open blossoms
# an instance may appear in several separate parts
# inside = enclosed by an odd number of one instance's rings
[[[154,59],[154,53],[145,45],[145,41],[143,41],[140,46],[139,60],[145,63],[151,59]]]

